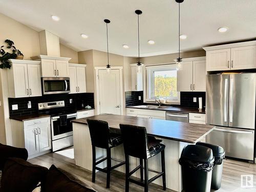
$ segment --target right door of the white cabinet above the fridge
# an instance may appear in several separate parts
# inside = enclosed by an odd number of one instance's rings
[[[256,68],[256,46],[231,48],[231,69]]]

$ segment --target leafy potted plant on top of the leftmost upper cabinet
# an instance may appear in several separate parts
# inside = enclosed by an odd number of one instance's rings
[[[12,40],[6,39],[5,40],[7,46],[1,46],[0,48],[0,68],[1,69],[5,69],[11,68],[11,63],[9,61],[9,59],[23,59],[24,55],[22,54],[22,52],[20,52],[18,49],[16,49],[16,47],[14,46],[14,42]],[[4,50],[4,47],[6,47],[7,49],[12,49],[12,53],[6,52]]]

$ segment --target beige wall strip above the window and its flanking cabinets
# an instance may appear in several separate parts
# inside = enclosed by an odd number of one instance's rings
[[[201,56],[205,56],[205,51],[203,49],[181,53],[181,58],[201,57]],[[145,65],[153,65],[153,64],[160,64],[160,63],[175,62],[174,60],[177,58],[178,58],[178,53],[173,53],[173,54],[157,55],[157,56],[151,56],[151,57],[142,57],[141,61]]]

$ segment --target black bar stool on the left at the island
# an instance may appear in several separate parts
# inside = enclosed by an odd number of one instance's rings
[[[122,143],[122,137],[119,134],[110,133],[108,122],[94,120],[94,119],[87,119],[87,123],[90,130],[90,135],[92,140],[92,151],[93,151],[92,182],[95,183],[95,173],[96,173],[96,170],[99,170],[103,173],[106,173],[106,188],[110,188],[111,170],[125,164],[125,161],[111,158],[111,148],[120,145]],[[106,157],[97,162],[96,162],[95,147],[106,149]],[[105,168],[100,168],[96,166],[105,160],[107,162],[107,166]],[[111,166],[111,160],[118,161],[120,163],[115,166]]]

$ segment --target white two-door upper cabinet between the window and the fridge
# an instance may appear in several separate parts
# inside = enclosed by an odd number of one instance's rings
[[[206,91],[205,57],[182,60],[177,71],[177,91]]]

